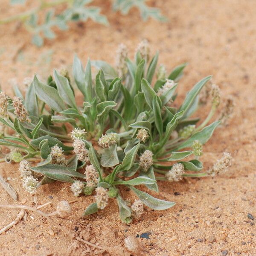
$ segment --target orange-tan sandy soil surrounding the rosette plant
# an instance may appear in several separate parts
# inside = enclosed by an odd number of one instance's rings
[[[19,11],[18,8],[9,9],[5,0],[0,2],[0,17]],[[234,162],[229,172],[215,178],[160,182],[159,195],[153,195],[175,201],[175,207],[166,211],[146,209],[143,219],[131,225],[119,221],[114,200],[110,200],[109,207],[99,214],[81,218],[83,210],[93,201],[92,196],[81,197],[73,203],[73,215],[68,220],[54,219],[74,234],[86,230],[85,238],[110,247],[122,246],[127,236],[149,233],[149,239],[138,238],[143,244],[143,255],[256,255],[256,220],[247,217],[250,213],[256,218],[256,2],[154,1],[169,18],[169,23],[164,24],[154,20],[143,23],[137,11],[128,17],[108,14],[109,1],[100,2],[104,2],[111,26],[93,22],[74,24],[69,32],[57,32],[57,40],[47,41],[40,49],[30,44],[29,35],[17,24],[1,26],[2,88],[11,93],[8,80],[13,77],[22,85],[24,77],[34,72],[44,78],[52,68],[63,64],[70,67],[74,52],[84,63],[88,56],[114,63],[119,43],[124,42],[133,52],[138,42],[147,38],[152,52],[160,50],[160,63],[169,70],[189,62],[179,85],[180,99],[196,81],[209,74],[220,85],[223,96],[232,94],[235,97],[235,115],[230,125],[218,128],[204,146],[202,157],[206,168],[221,157],[223,151],[230,151]],[[201,116],[204,115],[206,111],[201,111]],[[0,169],[4,177],[11,177],[9,182],[18,189],[17,165],[1,163]],[[180,195],[175,196],[174,192]],[[0,193],[0,204],[13,204],[2,188]],[[125,192],[125,195],[130,194]],[[20,202],[27,199],[26,204],[32,204],[32,198],[22,187],[18,196]],[[57,182],[42,186],[37,197],[39,205],[52,202],[45,208],[47,212],[53,211],[62,199],[76,199],[68,184]],[[14,220],[18,212],[0,209],[0,227]],[[0,235],[0,255],[86,255],[84,244],[73,243],[74,240],[46,219],[29,212],[27,221],[20,221]],[[93,251],[87,253],[94,254]],[[116,254],[121,255],[118,250]]]

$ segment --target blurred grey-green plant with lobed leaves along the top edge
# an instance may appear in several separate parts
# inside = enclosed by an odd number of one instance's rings
[[[10,0],[11,5],[24,5],[27,0]],[[53,31],[54,27],[61,30],[68,29],[69,22],[87,21],[92,19],[96,23],[107,26],[108,19],[101,14],[101,8],[91,6],[93,0],[38,0],[38,6],[28,9],[26,12],[7,17],[0,20],[0,24],[19,21],[32,34],[32,43],[38,47],[44,44],[44,38],[54,39],[56,37]],[[166,21],[160,10],[149,7],[146,0],[113,0],[113,10],[121,12],[122,15],[128,15],[131,8],[135,7],[140,11],[143,20],[152,17],[156,20]],[[65,7],[61,12],[55,12],[59,7]],[[46,11],[44,19],[40,17]]]

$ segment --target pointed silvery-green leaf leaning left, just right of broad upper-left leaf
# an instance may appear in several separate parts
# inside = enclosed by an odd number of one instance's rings
[[[77,109],[76,99],[68,79],[64,76],[61,76],[56,70],[54,70],[53,77],[58,89],[59,96],[64,100],[64,102],[67,103],[67,105]]]

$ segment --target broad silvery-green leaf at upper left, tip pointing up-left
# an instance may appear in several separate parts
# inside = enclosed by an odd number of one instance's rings
[[[57,112],[61,112],[66,108],[55,88],[41,83],[36,75],[34,76],[33,84],[38,98],[49,105],[50,108]]]

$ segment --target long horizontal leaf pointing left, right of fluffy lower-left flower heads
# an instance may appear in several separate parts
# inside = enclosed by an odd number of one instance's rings
[[[34,166],[31,167],[32,171],[34,172],[38,172],[41,174],[52,174],[52,175],[65,175],[65,176],[69,176],[69,177],[76,177],[76,178],[85,178],[84,174],[81,174],[79,172],[75,172],[72,169],[66,167],[66,166],[61,166],[58,164],[47,164],[47,165],[43,165],[43,166]],[[47,177],[49,177],[47,175]],[[55,178],[53,177],[49,177],[55,180]]]

